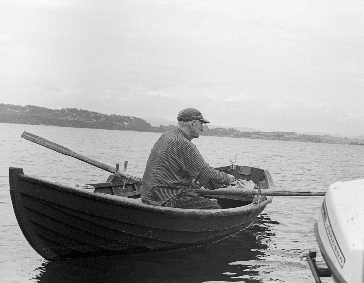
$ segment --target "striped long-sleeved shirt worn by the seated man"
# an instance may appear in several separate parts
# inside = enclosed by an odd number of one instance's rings
[[[163,133],[147,161],[141,187],[142,201],[166,206],[185,193],[200,198],[192,191],[194,178],[209,189],[229,184],[229,176],[209,166],[182,129]]]

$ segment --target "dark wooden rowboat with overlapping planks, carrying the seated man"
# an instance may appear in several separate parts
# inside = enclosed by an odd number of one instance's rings
[[[263,169],[235,165],[217,169],[236,179],[252,180],[263,190],[274,186]],[[21,231],[43,258],[52,261],[212,243],[244,230],[273,198],[204,195],[217,199],[222,209],[178,209],[142,203],[137,182],[90,184],[95,190],[89,192],[12,167],[9,179]]]

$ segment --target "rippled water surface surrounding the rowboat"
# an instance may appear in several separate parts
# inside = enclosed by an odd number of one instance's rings
[[[245,231],[218,243],[139,256],[50,263],[27,243],[9,194],[9,166],[50,181],[106,181],[109,173],[20,137],[29,131],[77,153],[142,176],[161,135],[0,123],[0,282],[314,282],[301,252],[316,247],[313,224],[323,197],[274,197]],[[269,170],[281,189],[325,191],[335,181],[364,178],[364,146],[200,137],[193,142],[211,166]],[[321,254],[318,263],[324,264]],[[332,282],[323,278],[323,282]]]

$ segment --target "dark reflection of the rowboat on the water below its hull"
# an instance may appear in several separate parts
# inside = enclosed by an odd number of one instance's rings
[[[276,221],[262,214],[245,231],[218,243],[170,252],[43,263],[39,283],[63,282],[263,282],[256,279],[265,262]],[[65,272],[66,271],[66,272]],[[249,279],[246,281],[246,279]]]

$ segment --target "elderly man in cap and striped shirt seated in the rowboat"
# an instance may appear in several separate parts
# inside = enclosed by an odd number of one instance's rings
[[[163,133],[151,150],[143,175],[142,201],[164,207],[220,209],[194,190],[201,185],[217,189],[234,181],[234,176],[209,166],[191,142],[199,137],[203,124],[210,122],[194,108],[180,111],[177,120],[178,128]]]

